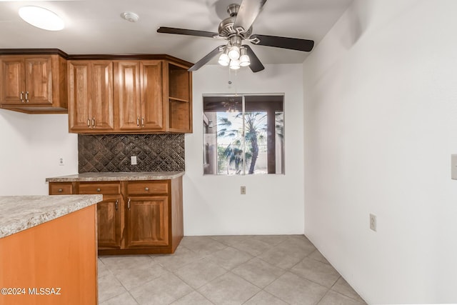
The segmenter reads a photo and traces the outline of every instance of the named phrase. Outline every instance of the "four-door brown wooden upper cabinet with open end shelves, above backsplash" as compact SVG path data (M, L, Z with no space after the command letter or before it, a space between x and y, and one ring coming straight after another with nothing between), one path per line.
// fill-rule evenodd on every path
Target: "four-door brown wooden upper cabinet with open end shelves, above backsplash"
M187 71L190 65L175 62L171 56L143 57L69 61L70 132L192 132L192 75ZM110 64L112 69L91 72L101 62Z

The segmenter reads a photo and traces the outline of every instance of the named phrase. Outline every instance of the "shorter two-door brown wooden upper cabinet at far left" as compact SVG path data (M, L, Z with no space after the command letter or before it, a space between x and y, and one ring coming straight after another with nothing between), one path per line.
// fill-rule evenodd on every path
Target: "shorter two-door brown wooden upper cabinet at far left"
M67 112L66 59L60 54L1 55L0 106L29 114Z

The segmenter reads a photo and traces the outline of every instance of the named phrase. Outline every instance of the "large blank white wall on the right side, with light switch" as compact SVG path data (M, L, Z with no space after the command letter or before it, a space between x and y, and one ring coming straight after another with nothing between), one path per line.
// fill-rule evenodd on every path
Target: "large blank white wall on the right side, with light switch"
M457 303L456 11L356 0L303 64L305 234L368 304Z

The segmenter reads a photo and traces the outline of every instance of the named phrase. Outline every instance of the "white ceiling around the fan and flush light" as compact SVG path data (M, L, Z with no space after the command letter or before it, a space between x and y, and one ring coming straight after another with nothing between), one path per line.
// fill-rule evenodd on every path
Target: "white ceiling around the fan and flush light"
M353 0L268 0L253 34L312 39L318 44ZM159 34L159 26L217 32L226 7L241 0L0 0L0 49L57 48L67 54L169 54L196 62L223 41ZM19 7L42 6L61 16L62 31L36 29L19 18ZM121 18L133 11L140 19ZM223 42L223 43L221 43ZM252 46L263 64L296 64L307 53Z

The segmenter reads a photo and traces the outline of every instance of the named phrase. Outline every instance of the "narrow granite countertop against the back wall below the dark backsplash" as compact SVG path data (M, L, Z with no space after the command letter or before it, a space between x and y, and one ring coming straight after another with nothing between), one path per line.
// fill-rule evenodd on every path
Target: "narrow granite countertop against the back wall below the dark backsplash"
M77 181L134 181L134 180L169 180L184 175L184 171L137 171L83 173L69 176L46 178L48 182L77 182Z

